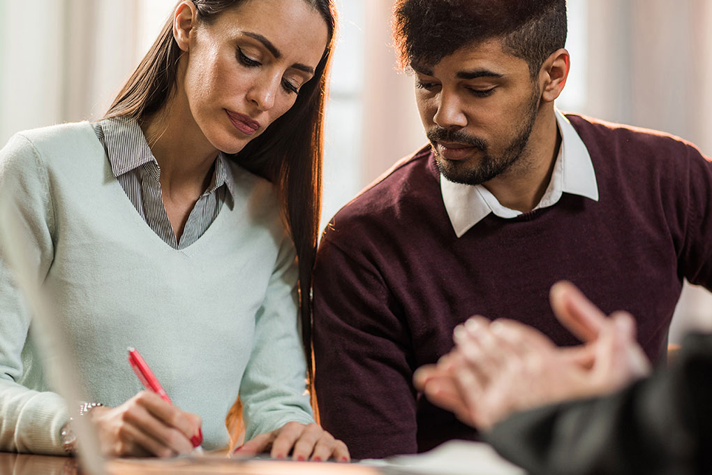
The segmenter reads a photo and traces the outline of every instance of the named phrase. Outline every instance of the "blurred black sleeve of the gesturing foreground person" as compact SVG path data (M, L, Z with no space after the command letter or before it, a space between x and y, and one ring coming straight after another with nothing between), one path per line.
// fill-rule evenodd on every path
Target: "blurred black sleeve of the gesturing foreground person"
M669 372L607 397L515 414L486 439L533 475L710 473L710 375L712 336L691 335Z

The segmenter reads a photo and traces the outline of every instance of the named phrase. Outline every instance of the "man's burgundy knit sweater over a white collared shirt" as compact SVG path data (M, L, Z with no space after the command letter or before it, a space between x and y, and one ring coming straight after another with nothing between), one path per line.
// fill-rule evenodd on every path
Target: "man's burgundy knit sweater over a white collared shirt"
M682 279L712 289L708 159L676 137L567 117L590 152L598 202L565 193L515 219L490 214L458 239L426 147L328 225L313 281L315 387L323 426L355 458L477 438L412 385L471 315L575 344L548 300L567 279L604 312L636 315L639 341L658 360Z

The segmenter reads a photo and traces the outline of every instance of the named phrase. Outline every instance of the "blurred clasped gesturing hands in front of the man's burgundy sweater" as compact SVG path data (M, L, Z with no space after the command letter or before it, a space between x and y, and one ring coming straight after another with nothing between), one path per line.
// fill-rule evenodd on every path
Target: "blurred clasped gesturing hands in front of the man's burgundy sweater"
M522 323L471 318L456 328L456 348L420 368L414 384L463 422L488 429L511 412L601 395L649 372L629 314L607 318L566 282L552 288L551 301L556 317L585 345L557 348Z

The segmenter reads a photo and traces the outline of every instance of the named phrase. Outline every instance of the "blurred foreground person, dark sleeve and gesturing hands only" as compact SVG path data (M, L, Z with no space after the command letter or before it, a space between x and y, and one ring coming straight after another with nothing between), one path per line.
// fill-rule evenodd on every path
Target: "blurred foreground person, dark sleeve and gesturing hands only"
M586 346L471 319L449 355L416 372L416 386L534 475L710 473L712 335L688 335L671 370L629 384L649 371L630 316L605 318L570 283L557 283L551 301Z

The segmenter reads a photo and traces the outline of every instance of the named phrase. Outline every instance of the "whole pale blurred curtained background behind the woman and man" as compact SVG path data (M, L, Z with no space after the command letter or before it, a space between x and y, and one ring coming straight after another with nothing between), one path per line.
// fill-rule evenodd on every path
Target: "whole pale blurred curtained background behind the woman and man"
M392 0L336 1L323 224L426 142L412 78L395 69ZM100 118L175 3L0 0L0 143L18 130ZM572 73L558 107L666 130L712 155L712 1L568 6ZM671 340L691 326L712 327L703 289L687 286L678 311Z

